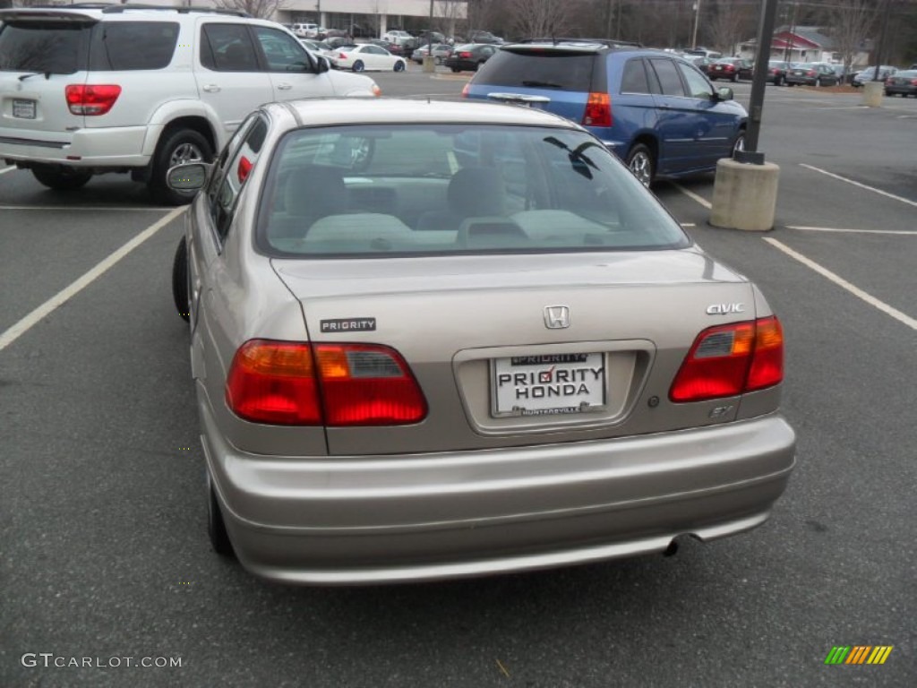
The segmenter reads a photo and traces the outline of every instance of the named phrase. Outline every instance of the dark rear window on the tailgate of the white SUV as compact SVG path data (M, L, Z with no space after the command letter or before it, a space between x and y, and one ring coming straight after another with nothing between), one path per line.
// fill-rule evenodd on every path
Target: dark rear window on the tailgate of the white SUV
M91 25L17 22L0 28L0 71L72 74L86 68Z

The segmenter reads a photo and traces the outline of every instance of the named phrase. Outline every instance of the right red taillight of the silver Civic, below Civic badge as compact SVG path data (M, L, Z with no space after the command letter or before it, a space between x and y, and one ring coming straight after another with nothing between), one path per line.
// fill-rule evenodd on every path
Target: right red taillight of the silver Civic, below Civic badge
M776 316L705 329L668 392L695 402L772 387L783 380L783 330Z

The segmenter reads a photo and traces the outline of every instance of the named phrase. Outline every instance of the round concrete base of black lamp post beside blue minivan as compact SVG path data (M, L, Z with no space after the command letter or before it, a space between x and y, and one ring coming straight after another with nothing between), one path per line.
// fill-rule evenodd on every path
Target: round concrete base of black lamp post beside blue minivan
M718 161L710 224L752 232L773 228L779 178L780 168L773 162L752 165L732 158Z

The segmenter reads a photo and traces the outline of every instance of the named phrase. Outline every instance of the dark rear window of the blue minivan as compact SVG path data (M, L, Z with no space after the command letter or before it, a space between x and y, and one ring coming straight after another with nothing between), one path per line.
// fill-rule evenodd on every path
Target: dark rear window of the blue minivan
M592 71L599 60L595 53L499 50L481 66L474 82L589 93Z

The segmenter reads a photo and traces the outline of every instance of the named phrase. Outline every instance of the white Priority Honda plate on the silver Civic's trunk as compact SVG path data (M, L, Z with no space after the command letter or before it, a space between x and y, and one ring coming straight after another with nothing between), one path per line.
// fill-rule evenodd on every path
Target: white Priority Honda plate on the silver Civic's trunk
M491 363L492 415L553 416L605 405L601 353L514 356Z

